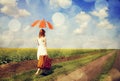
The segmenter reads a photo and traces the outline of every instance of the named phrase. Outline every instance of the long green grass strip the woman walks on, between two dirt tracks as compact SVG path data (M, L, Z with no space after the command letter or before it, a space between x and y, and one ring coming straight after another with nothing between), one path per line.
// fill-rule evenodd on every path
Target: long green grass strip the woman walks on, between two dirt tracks
M90 54L80 59L54 64L52 65L51 70L46 72L46 75L40 74L38 76L35 76L34 73L36 70L31 70L28 72L13 75L12 77L9 78L3 78L1 80L2 81L55 81L57 76L62 74L69 74L70 72L106 54L108 54L108 52Z

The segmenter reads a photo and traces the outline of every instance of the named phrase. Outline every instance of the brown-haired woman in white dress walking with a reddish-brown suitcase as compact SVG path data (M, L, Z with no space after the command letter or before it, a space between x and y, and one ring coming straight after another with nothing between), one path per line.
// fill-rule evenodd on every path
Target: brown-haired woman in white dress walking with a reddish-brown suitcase
M37 50L37 72L36 75L39 73L40 70L45 70L47 68L50 68L50 65L48 64L48 54L47 54L47 46L46 46L46 37L45 37L45 30L41 29L39 32L39 36L37 38L38 42L38 50Z

